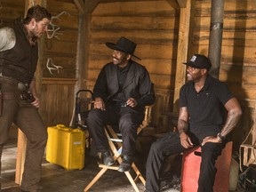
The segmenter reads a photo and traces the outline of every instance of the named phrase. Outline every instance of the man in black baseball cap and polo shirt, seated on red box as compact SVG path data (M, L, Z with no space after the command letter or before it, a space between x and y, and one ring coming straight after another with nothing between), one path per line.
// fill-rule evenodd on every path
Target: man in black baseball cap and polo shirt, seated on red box
M152 144L146 168L147 192L160 191L160 169L166 156L197 146L202 149L197 191L212 192L215 160L227 142L226 136L242 115L228 86L208 75L212 64L207 57L195 54L184 64L188 83L180 89L179 132L170 132Z

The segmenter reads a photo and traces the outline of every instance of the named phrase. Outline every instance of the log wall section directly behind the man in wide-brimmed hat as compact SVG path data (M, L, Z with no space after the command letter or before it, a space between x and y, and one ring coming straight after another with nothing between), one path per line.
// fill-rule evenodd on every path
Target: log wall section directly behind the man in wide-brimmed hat
M140 64L148 68L155 84L156 104L153 122L156 132L166 131L167 111L172 110L172 95L177 58L179 10L168 1L102 3L92 12L89 28L87 87L93 88L100 68L112 61L106 42L125 36L135 43Z

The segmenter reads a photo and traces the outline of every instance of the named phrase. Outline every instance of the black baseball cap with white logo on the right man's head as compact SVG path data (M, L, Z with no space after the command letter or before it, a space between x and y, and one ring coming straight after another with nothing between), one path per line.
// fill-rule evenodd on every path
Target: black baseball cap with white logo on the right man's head
M183 64L192 68L206 68L208 71L212 67L211 60L201 54L194 54L188 62Z

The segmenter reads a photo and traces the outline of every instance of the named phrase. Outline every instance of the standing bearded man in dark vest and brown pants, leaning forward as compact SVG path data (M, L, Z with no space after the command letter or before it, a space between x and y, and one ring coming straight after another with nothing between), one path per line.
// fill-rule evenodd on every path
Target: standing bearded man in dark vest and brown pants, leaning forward
M52 19L40 5L28 9L27 17L13 28L0 28L0 155L12 123L27 137L27 152L21 182L22 191L36 192L47 131L38 113L34 73L38 59L37 40Z

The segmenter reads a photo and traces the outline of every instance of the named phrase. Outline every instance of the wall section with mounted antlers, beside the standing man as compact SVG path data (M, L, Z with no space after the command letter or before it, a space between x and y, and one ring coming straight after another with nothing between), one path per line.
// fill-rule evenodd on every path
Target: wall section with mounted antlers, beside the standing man
M46 126L69 125L74 109L79 12L73 0L47 1L52 24L44 38L40 112Z

